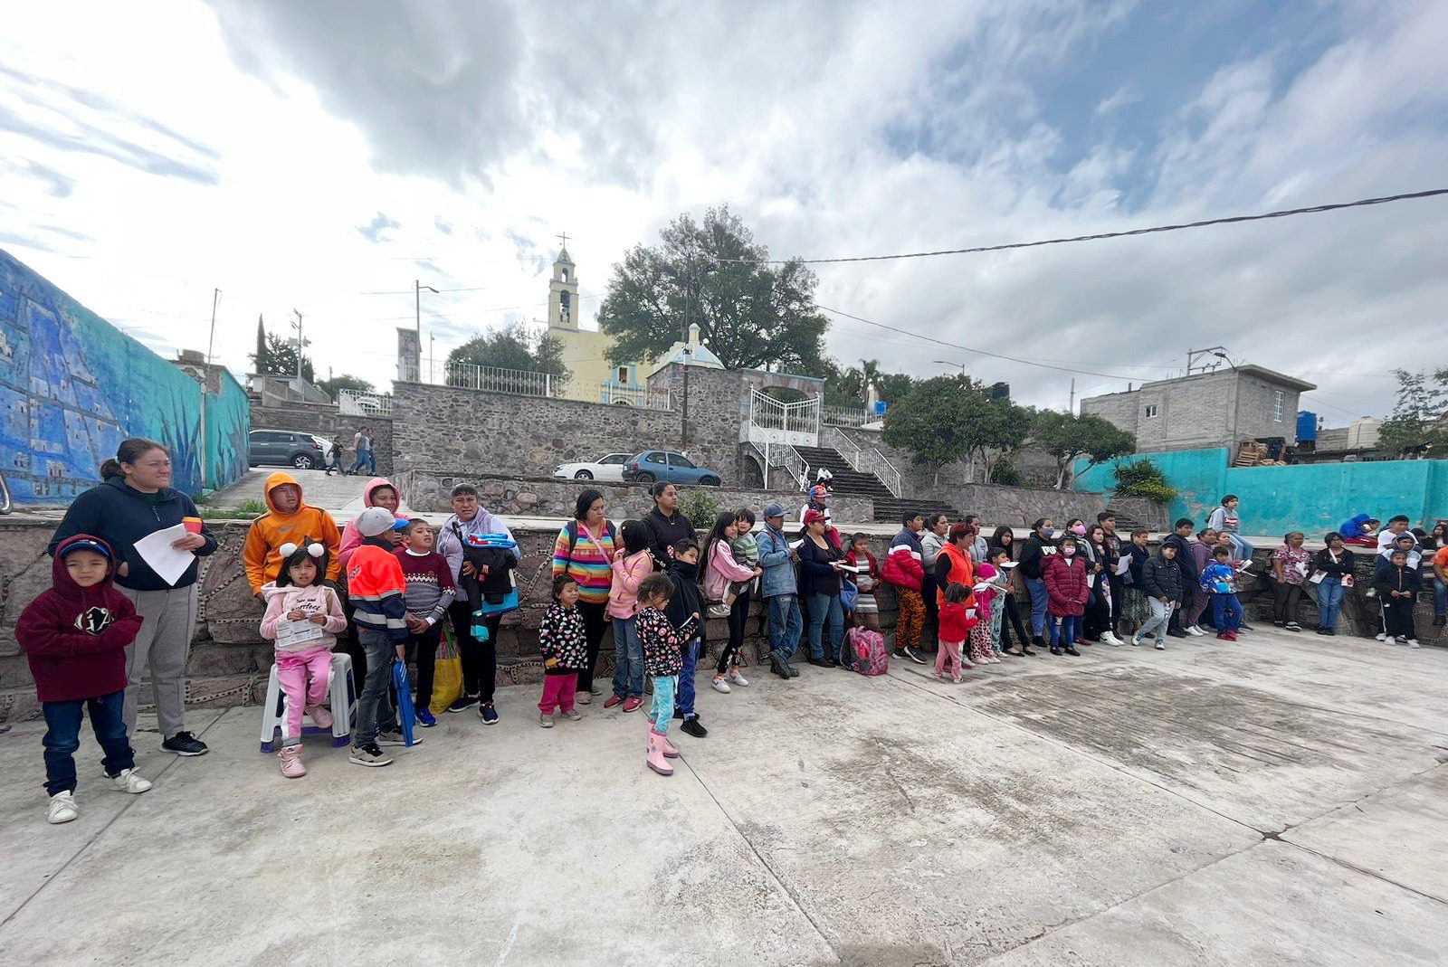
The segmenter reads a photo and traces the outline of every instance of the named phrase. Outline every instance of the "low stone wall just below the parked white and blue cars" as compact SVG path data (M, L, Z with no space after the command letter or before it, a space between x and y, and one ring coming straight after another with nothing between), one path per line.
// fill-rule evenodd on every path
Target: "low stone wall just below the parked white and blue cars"
M418 468L404 470L398 486L407 495L407 505L423 512L446 514L452 511L450 494L458 483L472 483L482 495L482 504L495 514L526 517L572 517L578 495L595 489L608 502L608 518L613 521L643 517L653 508L649 489L639 483L608 483L601 481L571 481L557 478L515 478L469 473L466 470L443 470ZM714 498L720 510L747 507L759 510L779 501L791 520L798 518L805 497L799 492L770 492L760 489L736 489L721 486L679 488L683 495L691 491ZM831 512L841 524L870 523L875 520L875 502L867 497L834 497Z

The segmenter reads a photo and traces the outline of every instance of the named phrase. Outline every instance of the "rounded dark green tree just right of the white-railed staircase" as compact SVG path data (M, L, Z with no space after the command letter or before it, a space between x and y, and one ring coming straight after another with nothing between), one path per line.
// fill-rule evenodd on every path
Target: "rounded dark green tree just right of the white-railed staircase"
M995 457L1019 447L1030 423L1027 410L992 400L970 376L935 376L886 408L885 442L933 465L937 482L954 460L979 462L989 482Z

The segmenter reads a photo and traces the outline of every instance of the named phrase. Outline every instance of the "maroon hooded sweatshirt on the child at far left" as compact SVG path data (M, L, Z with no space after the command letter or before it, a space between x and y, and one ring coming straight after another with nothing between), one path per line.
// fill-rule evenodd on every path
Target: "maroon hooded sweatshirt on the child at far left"
M74 534L56 550L78 540L100 539ZM140 617L130 599L111 586L114 573L111 556L104 580L81 588L56 553L51 562L51 589L20 612L14 638L30 662L35 693L42 702L100 698L126 688L126 646L140 631Z

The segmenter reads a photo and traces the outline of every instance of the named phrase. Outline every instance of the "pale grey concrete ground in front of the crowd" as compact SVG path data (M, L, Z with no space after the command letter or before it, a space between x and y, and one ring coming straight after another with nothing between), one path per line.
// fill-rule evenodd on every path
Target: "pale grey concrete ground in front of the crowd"
M1448 650L1260 631L940 683L805 666L641 714L445 715L363 770L256 751L259 711L83 740L43 821L41 727L0 737L0 963L1442 964Z

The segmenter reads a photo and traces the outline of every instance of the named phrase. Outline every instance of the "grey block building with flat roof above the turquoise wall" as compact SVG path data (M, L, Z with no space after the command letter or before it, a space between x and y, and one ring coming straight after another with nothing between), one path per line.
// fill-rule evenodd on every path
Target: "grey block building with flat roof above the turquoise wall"
M1293 443L1297 398L1316 388L1263 366L1234 366L1087 397L1080 411L1134 433L1141 453L1232 446L1254 437Z

